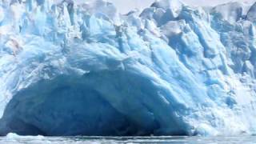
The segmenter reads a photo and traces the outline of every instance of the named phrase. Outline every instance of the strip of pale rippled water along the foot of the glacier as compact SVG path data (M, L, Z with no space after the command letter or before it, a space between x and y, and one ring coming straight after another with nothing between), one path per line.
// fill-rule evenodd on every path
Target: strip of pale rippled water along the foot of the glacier
M0 143L177 143L177 144L254 144L256 136L240 137L0 137Z

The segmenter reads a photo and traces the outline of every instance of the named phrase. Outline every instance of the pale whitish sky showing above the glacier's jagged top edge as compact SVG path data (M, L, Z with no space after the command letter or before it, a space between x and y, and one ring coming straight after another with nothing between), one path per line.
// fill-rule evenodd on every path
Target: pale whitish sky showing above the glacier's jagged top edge
M143 9L145 7L150 6L154 0L108 0L113 2L117 7L118 10L125 14L134 8ZM216 6L218 4L226 3L226 2L234 2L234 0L181 0L188 5L194 6ZM237 2L247 2L253 3L256 0L237 0Z

